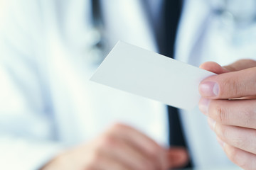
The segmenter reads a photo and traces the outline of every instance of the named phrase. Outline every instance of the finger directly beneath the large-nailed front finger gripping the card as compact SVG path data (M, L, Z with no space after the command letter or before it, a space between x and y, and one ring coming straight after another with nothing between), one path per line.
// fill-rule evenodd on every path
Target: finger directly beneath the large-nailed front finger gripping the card
M256 100L208 100L201 98L200 110L223 125L256 129Z

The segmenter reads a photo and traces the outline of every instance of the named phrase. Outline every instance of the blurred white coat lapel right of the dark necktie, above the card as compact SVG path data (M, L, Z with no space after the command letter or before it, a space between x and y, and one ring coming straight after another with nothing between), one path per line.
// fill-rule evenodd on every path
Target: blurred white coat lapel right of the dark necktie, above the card
M195 47L206 29L209 16L210 9L205 1L184 1L183 14L176 38L175 54L181 62L191 62L191 59L194 59L192 55L195 55Z

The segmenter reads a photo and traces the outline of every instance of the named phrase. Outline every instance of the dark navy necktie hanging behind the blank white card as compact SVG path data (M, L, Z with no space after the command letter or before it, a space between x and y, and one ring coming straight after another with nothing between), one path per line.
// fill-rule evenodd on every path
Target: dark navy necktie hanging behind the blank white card
M178 27L178 21L181 16L181 0L165 0L164 1L164 29L162 36L163 42L161 45L162 55L174 58L174 44L176 40L176 33ZM183 135L183 129L181 126L181 118L178 113L178 109L168 106L168 117L169 117L169 142L170 146L187 147L186 140ZM191 162L187 167L191 167Z

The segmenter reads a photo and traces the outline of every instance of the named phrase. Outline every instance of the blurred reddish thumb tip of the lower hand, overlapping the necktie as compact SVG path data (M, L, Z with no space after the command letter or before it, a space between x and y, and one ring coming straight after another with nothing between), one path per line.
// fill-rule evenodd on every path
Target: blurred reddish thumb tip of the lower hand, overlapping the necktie
M173 147L166 152L166 169L178 168L188 164L188 152L183 147Z

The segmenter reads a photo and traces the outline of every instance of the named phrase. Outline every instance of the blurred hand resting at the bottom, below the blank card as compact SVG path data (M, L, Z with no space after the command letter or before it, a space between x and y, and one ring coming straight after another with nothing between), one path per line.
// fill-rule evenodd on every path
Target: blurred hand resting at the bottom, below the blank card
M60 154L42 170L165 170L186 162L185 149L164 149L134 128L116 124L92 142Z

